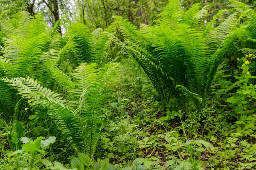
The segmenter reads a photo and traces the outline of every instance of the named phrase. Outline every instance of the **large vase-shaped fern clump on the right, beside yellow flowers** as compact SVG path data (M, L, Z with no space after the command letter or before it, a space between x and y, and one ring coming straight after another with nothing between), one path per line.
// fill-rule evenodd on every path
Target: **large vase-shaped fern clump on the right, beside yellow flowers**
M222 57L239 34L238 13L214 26L223 13L219 11L205 26L205 8L194 4L183 12L179 0L172 0L154 26L137 29L115 17L111 27L121 30L125 40L114 37L114 29L109 29L109 37L134 57L163 99L175 97L184 110L194 102L200 109Z

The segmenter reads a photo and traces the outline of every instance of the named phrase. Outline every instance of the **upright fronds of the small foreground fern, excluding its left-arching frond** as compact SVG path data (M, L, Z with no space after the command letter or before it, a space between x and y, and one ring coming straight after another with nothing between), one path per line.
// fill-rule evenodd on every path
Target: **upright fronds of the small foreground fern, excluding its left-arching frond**
M105 122L105 109L113 98L111 86L116 84L119 77L119 65L107 64L103 68L96 69L97 63L81 64L74 73L76 88L70 91L76 107L76 113L81 119L85 152L93 156L100 129Z

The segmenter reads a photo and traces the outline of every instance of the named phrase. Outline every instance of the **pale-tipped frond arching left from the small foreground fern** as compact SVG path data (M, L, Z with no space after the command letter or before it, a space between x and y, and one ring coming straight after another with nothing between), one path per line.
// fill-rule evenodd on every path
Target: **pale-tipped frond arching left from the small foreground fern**
M47 108L47 114L52 121L56 123L58 129L61 130L67 139L75 144L76 148L80 148L81 129L79 128L79 119L70 111L66 104L66 100L55 94L47 88L44 88L32 78L12 78L3 79L12 88L15 88L21 96L30 99L31 105L40 105Z

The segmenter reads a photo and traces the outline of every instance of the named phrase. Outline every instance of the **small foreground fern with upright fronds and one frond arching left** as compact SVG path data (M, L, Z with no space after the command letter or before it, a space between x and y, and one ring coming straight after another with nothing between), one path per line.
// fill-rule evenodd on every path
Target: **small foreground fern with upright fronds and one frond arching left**
M43 87L35 79L4 78L3 81L31 101L31 106L47 109L50 119L73 147L93 156L99 134L106 120L109 102L113 99L111 86L116 84L119 66L108 64L96 69L97 63L81 64L74 73L75 86L67 100Z

